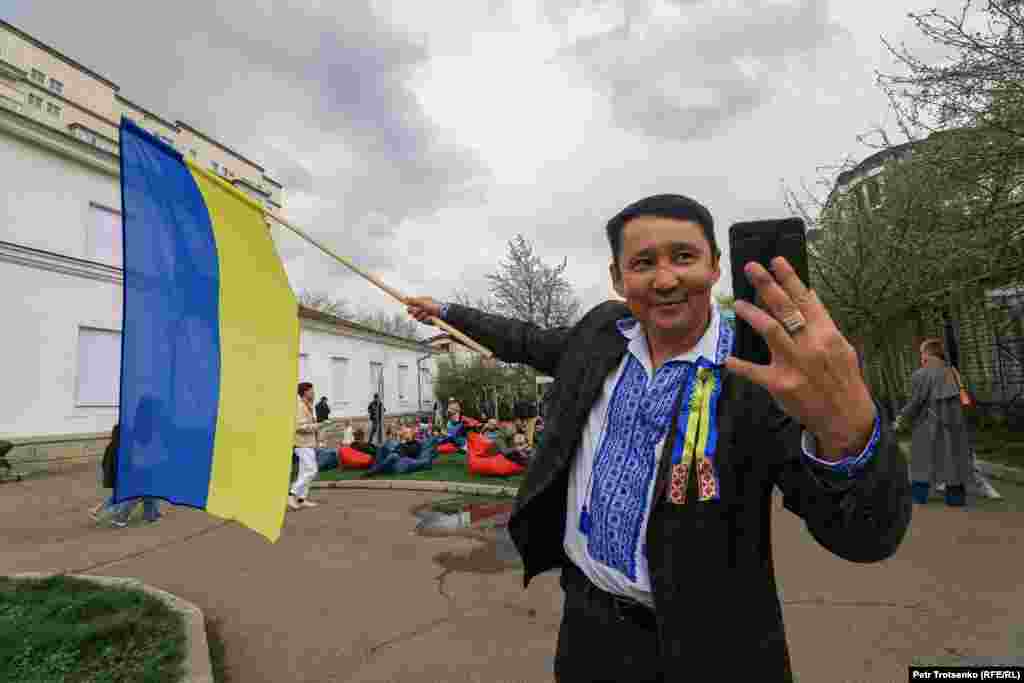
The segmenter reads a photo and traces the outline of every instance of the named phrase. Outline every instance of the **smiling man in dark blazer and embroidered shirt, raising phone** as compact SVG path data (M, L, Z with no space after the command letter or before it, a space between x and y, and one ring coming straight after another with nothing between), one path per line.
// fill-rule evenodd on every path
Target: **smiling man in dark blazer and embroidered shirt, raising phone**
M555 378L508 524L525 585L561 569L555 679L791 682L773 489L829 552L879 562L910 522L906 461L853 347L785 259L745 265L763 308L735 303L771 349L759 366L731 355L712 300L707 208L651 197L606 232L625 302L571 328L407 299L421 323Z

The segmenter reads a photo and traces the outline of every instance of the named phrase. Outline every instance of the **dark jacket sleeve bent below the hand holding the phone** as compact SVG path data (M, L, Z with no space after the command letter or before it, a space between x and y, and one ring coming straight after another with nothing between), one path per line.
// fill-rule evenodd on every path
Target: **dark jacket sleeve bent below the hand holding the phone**
M784 507L844 559L878 562L895 553L910 524L911 502L906 460L890 426L880 421L873 453L861 467L839 472L808 458L801 426L769 402L765 426L775 441L770 476Z

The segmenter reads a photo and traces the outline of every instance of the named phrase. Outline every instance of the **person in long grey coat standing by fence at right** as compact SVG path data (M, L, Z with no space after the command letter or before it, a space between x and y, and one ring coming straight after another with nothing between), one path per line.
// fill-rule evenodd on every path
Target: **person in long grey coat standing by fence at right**
M897 426L913 424L910 480L914 503L927 503L932 481L946 484L946 504L965 503L971 446L959 400L959 374L946 365L939 339L921 345L921 369L910 378L911 396Z

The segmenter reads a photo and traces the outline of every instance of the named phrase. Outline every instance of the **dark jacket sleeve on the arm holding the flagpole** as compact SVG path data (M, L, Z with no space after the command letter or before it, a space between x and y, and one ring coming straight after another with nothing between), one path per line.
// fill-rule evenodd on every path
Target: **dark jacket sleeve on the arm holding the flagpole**
M447 304L444 322L480 342L505 362L519 362L554 376L569 336L569 328L542 330L530 323Z

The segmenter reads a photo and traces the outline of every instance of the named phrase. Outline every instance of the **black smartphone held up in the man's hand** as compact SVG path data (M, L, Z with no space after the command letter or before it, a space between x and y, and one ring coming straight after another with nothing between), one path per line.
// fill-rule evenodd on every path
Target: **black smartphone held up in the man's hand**
M757 261L771 272L771 260L783 257L808 285L807 230L801 218L752 220L729 228L729 261L732 265L732 294L739 300L758 304L757 291L743 272L743 266ZM745 321L736 316L733 354L737 358L767 365L771 362L768 344Z

